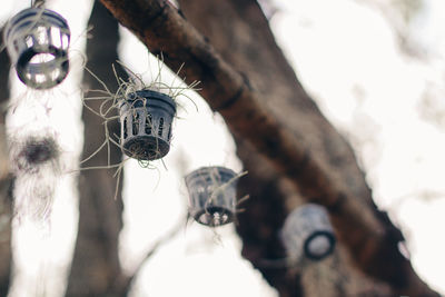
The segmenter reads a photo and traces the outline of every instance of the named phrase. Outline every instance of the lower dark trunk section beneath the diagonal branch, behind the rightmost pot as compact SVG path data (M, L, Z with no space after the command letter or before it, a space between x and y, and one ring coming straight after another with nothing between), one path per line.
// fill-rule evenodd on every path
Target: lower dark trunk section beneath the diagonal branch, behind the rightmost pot
M335 254L320 263L306 261L287 268L280 260L270 261L286 257L277 235L286 209L300 206L305 199L293 182L277 174L270 161L247 141L236 138L236 142L238 156L249 170L249 175L238 182L240 196L250 195L250 199L240 206L246 211L238 215L243 254L277 288L279 296L394 296L388 285L357 270L343 242L337 242Z

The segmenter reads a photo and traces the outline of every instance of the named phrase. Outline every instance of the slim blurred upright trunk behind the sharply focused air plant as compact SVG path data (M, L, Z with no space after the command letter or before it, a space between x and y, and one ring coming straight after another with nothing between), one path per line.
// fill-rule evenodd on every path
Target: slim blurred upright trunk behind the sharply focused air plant
M96 1L90 26L93 36L87 42L87 67L93 71L111 89L116 90L116 79L111 65L118 59L118 23L103 6ZM123 78L125 73L119 71ZM103 87L90 73L85 73L86 97L103 96L92 90ZM91 100L87 105L98 110L101 101ZM89 157L105 140L103 120L83 108L85 145L82 159ZM118 121L109 125L111 135L119 135ZM121 151L116 146L110 147L110 162L121 161ZM107 149L102 149L91 161L82 167L107 165ZM66 296L122 296L122 270L119 264L118 242L122 228L122 197L119 192L115 200L117 179L112 169L82 170L79 178L79 229L76 241L71 273L68 279Z

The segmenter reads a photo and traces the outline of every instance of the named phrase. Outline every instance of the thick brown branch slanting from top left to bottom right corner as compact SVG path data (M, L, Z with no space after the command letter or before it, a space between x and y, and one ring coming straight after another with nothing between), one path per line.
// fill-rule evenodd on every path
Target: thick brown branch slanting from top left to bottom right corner
M327 207L339 239L363 271L390 284L398 294L438 296L416 276L411 263L398 251L397 244L403 237L376 211L350 147L320 115L289 67L278 73L281 73L279 78L290 76L281 85L291 87L285 92L273 88L275 95L268 97L268 92L263 92L267 87L260 83L264 80L243 76L226 62L168 1L101 2L151 52L162 51L171 69L186 62L184 70L188 81L202 81L201 95L221 113L230 131L266 156L277 172L291 180L306 199ZM248 9L251 9L250 2L240 1ZM263 20L257 20L256 24L258 22ZM271 33L268 31L267 36ZM259 62L260 57L257 58ZM281 65L283 60L276 62ZM279 97L291 106L286 115L279 116L270 103L271 98Z

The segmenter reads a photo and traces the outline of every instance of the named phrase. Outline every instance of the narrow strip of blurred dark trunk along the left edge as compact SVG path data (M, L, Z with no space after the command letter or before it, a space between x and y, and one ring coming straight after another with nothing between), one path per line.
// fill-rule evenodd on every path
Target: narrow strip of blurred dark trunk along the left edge
M0 36L3 31L0 30ZM0 51L0 296L7 296L11 278L11 189L13 178L8 165L8 146L4 129L4 111L9 100L9 58Z

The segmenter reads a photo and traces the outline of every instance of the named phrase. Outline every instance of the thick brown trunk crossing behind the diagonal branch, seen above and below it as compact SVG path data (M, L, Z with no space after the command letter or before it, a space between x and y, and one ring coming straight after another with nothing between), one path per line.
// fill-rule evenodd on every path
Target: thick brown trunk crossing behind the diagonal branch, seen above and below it
M330 170L342 168L343 175L349 179L357 177L350 180L350 184L366 189L355 162L352 162L350 158L345 159L350 156L343 154L346 155L343 160L328 159L336 149L342 150L342 143L337 147L334 145L338 142L339 136L333 132L330 127L326 131L323 127L314 127L314 123L306 123L301 128L304 122L298 120L301 115L297 113L295 105L301 105L301 101L309 101L310 98L298 83L275 43L266 18L256 1L179 0L179 4L187 20L209 39L222 58L247 77L250 85L264 95L263 98L268 98L260 103L274 113L280 125L288 127L296 136L305 132L301 140L306 138L314 151L322 152L318 158L326 158L324 162L332 164ZM314 109L309 117L317 120L320 115ZM285 256L277 231L283 226L286 215L296 206L304 204L305 199L299 194L300 190L293 187L289 179L277 171L270 161L258 155L254 147L241 137L235 139L238 156L245 169L249 171L249 175L240 181L239 190L249 192L251 197L243 206L247 211L239 215L237 225L244 240L243 254L263 271L273 286L278 288L280 296L297 296L296 280L299 278L303 280L301 291L305 296L390 296L387 286L364 277L352 267L350 257L343 242L339 242L334 259L327 260L330 265L314 264L298 267L301 274L296 274L296 269L269 269L261 265L265 258ZM334 147L330 148L329 145ZM370 196L357 196L357 199L363 199L364 204L373 207L368 198ZM335 273L333 264L336 266Z

